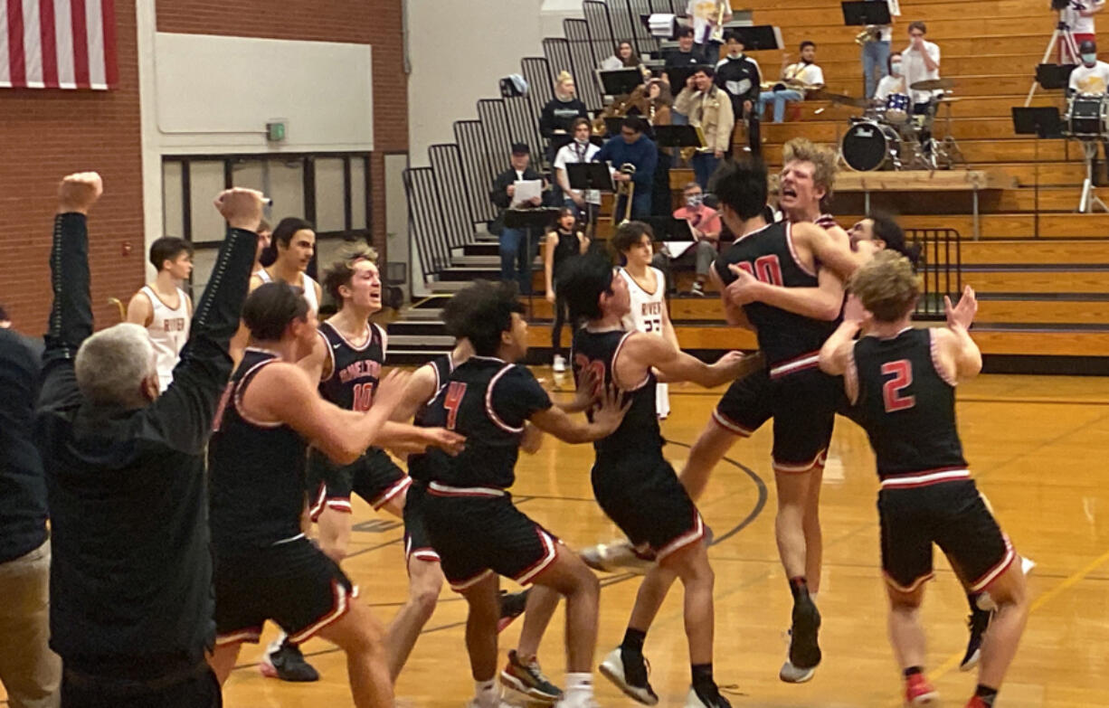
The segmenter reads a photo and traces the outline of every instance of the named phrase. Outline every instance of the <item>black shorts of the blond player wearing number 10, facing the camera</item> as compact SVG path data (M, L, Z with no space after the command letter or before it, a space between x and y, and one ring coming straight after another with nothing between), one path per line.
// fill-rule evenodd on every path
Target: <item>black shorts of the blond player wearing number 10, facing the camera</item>
M324 509L349 514L352 493L378 510L411 484L405 471L380 448L368 449L347 465L335 464L324 453L312 450L307 479L312 521L317 521Z

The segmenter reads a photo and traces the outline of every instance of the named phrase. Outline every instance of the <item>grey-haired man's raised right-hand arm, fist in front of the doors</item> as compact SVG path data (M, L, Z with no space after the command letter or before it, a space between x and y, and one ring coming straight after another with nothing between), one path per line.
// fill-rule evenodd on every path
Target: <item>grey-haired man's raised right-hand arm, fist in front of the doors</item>
M226 189L214 203L227 220L227 234L196 305L173 383L146 409L171 447L193 454L207 443L220 394L231 377L228 346L246 299L263 196L254 189Z

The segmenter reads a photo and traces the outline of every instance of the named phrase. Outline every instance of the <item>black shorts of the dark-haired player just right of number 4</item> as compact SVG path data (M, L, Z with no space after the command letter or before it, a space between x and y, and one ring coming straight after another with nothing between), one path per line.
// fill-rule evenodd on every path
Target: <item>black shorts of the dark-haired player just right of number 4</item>
M704 522L674 469L659 453L598 460L593 495L640 553L659 561L704 537Z

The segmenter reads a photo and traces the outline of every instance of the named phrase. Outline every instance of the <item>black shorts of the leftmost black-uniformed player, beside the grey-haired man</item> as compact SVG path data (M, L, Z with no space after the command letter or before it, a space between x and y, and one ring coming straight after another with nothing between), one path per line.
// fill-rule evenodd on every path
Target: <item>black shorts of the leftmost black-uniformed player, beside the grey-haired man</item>
M266 619L301 644L340 619L358 595L339 566L304 536L216 553L214 585L216 646L257 643Z

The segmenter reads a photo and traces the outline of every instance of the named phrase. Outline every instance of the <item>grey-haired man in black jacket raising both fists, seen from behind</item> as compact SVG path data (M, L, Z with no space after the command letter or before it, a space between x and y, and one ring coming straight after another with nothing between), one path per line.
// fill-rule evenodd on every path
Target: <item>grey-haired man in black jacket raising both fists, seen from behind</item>
M92 334L85 215L101 192L95 173L70 175L59 191L37 415L62 706L220 706L205 661L215 624L203 455L231 374L227 342L246 297L262 195L228 189L216 198L227 237L173 383L159 396L141 328Z

